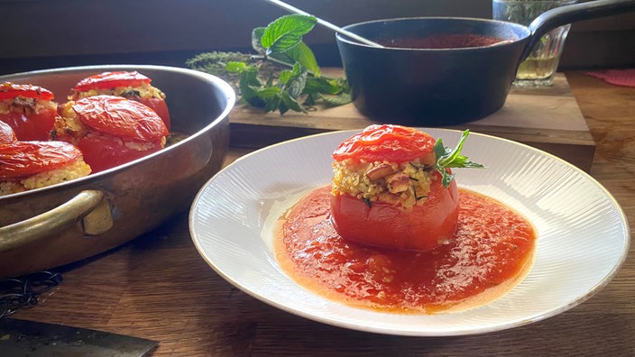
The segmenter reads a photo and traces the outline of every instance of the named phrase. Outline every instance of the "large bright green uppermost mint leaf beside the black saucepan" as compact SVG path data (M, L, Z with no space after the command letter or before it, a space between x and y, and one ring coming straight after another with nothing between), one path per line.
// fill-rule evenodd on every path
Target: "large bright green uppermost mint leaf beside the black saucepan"
M270 23L262 33L261 44L267 55L285 52L302 41L318 20L314 16L290 14Z

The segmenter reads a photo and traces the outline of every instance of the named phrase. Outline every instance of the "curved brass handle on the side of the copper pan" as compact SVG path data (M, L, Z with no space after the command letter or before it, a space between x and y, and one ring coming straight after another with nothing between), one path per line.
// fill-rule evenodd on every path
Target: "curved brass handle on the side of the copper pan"
M104 193L84 190L48 212L0 227L0 252L19 248L82 221L84 233L104 233L113 225Z

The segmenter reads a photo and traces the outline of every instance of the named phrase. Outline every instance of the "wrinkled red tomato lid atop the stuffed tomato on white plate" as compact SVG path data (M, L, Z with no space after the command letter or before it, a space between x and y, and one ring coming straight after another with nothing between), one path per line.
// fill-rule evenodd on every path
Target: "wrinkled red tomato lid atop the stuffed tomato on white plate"
M333 159L408 162L433 154L435 142L427 133L410 127L376 124L341 142L333 152Z

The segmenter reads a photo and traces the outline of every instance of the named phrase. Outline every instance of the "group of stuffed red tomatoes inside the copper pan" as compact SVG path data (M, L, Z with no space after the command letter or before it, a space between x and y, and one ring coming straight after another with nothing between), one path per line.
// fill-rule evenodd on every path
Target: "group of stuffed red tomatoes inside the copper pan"
M111 169L165 146L170 115L149 78L106 72L72 93L58 105L46 88L0 87L0 195Z

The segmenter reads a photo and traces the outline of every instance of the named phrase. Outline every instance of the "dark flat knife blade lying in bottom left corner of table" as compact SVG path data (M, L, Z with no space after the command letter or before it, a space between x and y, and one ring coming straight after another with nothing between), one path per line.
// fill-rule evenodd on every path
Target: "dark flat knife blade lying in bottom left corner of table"
M0 319L0 351L5 356L144 356L157 341L86 328L14 318Z

